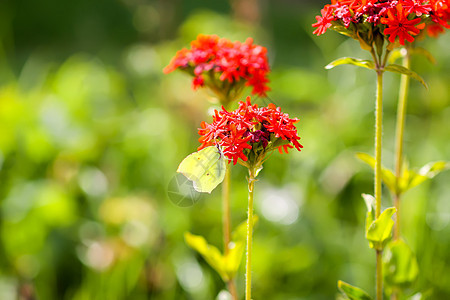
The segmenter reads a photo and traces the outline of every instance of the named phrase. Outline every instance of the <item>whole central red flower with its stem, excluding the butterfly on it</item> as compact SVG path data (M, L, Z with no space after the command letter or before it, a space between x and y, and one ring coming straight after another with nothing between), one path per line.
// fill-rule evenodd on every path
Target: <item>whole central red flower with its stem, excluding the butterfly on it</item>
M301 151L297 128L294 125L299 120L290 118L270 103L267 107L258 107L252 104L250 97L240 101L238 109L215 111L212 123L201 123L199 141L200 149L215 146L220 148L221 155L228 159L229 164L239 163L249 170L248 175L248 218L247 218L247 248L246 248L246 275L245 299L251 299L252 282L252 234L253 234L253 188L256 176L261 171L263 163L270 154L278 150L288 153L295 148ZM228 166L229 168L229 166ZM225 175L227 177L227 175ZM224 199L227 198L227 188L224 187ZM225 205L225 204L224 204ZM224 208L226 210L226 208ZM226 215L226 214L225 214ZM225 224L226 222L224 222ZM229 249L227 250L229 251ZM232 287L230 287L230 292Z

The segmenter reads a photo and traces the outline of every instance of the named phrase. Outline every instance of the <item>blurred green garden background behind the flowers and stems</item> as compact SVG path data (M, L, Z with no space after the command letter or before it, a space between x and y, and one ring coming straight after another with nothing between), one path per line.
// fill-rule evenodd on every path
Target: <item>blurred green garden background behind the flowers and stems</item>
M274 154L255 188L254 298L333 299L338 279L373 294L360 196L372 193L372 172L354 153L373 151L375 74L324 70L341 56L367 57L335 32L312 35L324 3L1 1L0 299L209 300L224 289L183 238L222 247L220 189L190 207L167 196L215 105L185 74L162 74L199 33L266 46L272 91L253 101L301 119L304 149ZM450 160L450 36L420 44L437 64L413 60L430 86L411 86L405 150L415 167ZM385 82L392 167L399 76ZM246 217L245 175L233 168L234 225ZM421 270L410 292L430 299L450 299L449 182L443 173L403 202ZM383 201L392 205L388 193Z

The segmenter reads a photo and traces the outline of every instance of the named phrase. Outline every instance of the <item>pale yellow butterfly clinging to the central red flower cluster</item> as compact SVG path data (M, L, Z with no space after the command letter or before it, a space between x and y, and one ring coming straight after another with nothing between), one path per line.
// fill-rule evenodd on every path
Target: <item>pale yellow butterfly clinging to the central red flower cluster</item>
M226 168L223 153L210 146L188 155L177 172L192 181L197 192L211 193L225 178Z

